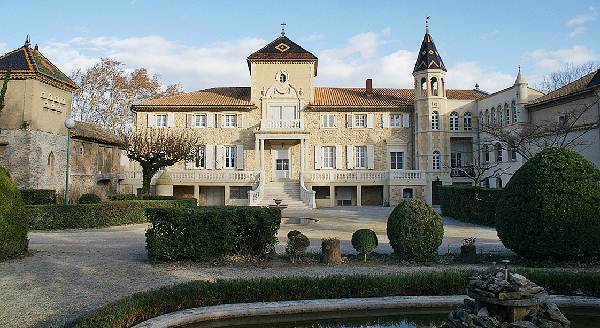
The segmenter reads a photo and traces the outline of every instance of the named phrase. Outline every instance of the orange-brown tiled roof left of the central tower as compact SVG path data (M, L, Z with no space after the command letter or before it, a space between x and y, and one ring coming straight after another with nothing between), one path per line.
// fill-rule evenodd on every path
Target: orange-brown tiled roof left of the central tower
M161 106L252 106L249 87L211 88L193 92L185 92L174 96L146 100L133 109L140 107Z

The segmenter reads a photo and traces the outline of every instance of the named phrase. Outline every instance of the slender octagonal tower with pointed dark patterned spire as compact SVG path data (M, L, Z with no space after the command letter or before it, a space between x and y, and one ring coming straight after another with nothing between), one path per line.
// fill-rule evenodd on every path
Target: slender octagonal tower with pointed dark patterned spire
M417 169L425 171L425 199L436 203L435 188L451 183L450 139L446 123L446 67L429 34L429 17L425 36L413 70L415 82L415 152Z

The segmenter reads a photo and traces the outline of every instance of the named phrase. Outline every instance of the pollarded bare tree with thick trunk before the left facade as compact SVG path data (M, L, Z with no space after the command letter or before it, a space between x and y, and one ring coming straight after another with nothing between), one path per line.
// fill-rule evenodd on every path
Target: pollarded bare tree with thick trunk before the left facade
M197 137L189 132L171 129L142 129L124 137L127 157L142 167L142 193L150 193L150 181L160 169L180 161L195 160Z

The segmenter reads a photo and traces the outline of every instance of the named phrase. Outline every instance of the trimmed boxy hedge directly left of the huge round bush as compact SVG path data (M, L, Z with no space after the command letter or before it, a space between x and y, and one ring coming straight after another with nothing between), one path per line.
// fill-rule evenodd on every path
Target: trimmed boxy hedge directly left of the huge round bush
M496 206L503 189L443 186L439 188L442 215L459 221L496 226Z

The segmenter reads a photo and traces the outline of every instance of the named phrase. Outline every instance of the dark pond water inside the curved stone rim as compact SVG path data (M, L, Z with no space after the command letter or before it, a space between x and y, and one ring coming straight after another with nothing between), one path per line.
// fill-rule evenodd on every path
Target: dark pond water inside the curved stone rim
M257 316L199 323L187 328L426 328L440 327L451 309L378 310ZM594 310L561 309L573 328L600 327L600 313Z

